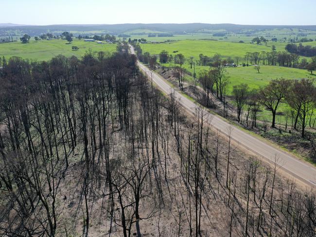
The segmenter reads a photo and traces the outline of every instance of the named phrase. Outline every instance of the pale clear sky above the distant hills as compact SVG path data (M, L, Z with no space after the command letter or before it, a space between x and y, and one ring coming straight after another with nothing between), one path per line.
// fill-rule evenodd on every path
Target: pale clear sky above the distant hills
M0 0L0 23L316 25L315 0Z

